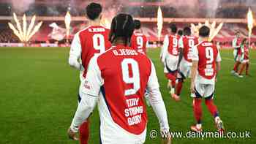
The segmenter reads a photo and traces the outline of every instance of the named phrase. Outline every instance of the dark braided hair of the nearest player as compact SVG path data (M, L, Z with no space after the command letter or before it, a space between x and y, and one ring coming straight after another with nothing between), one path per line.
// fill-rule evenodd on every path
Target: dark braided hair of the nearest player
M109 41L113 42L117 37L125 39L126 44L130 42L135 29L132 15L121 13L116 15L111 22Z

